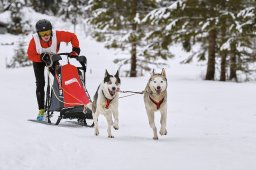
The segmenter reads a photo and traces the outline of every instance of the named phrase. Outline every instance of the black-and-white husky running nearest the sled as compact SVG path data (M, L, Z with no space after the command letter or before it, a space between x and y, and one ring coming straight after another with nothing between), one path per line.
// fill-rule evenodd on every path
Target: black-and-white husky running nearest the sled
M92 103L93 120L95 123L95 135L99 135L98 117L103 114L108 123L108 137L114 138L111 133L111 126L113 125L115 130L118 130L118 98L119 87L121 80L119 78L119 72L110 75L108 71L105 72L103 82L99 85ZM114 123L112 120L114 117Z

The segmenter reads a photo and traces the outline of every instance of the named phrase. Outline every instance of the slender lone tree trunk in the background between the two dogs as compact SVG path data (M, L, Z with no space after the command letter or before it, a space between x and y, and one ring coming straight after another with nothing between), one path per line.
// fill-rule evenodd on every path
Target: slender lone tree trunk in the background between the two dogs
M137 0L133 0L132 2L132 14L135 18L137 12ZM136 30L137 24L133 22L132 24L133 36L131 38L131 70L130 70L130 77L137 77L137 37L136 37Z

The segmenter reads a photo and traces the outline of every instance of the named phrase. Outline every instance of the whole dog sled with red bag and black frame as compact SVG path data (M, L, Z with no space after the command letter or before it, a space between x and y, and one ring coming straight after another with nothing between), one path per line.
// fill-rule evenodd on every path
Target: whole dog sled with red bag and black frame
M67 56L67 64L61 65L60 56ZM62 119L77 119L79 124L93 127L94 123L88 125L86 120L93 119L92 111L87 107L91 103L88 91L85 87L85 75L87 59L85 56L76 57L81 67L70 64L69 53L48 55L42 60L46 63L54 77L53 84L50 81L50 74L47 78L45 111L48 123L54 112L59 112L56 125Z

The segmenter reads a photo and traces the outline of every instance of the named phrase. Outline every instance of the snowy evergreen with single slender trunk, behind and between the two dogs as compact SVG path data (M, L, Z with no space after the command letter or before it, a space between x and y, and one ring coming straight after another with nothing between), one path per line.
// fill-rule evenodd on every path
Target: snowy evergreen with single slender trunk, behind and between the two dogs
M87 21L95 27L93 36L105 41L108 48L130 51L131 57L124 63L130 63L131 77L137 76L137 59L145 54L143 38L150 29L141 19L155 7L155 0L91 0L87 8L91 11Z

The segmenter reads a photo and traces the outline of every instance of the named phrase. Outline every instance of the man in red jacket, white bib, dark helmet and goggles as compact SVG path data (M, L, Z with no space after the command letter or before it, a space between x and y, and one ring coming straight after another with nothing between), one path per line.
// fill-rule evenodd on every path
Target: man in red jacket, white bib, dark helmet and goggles
M28 59L33 62L33 69L36 78L36 97L39 108L37 120L42 121L45 113L44 68L46 66L45 62L42 61L42 57L49 53L57 54L61 42L71 42L71 57L77 57L80 53L80 48L79 41L74 33L52 30L51 22L46 19L39 20L36 23L36 32L37 33L33 34L33 38L30 40L27 54Z

